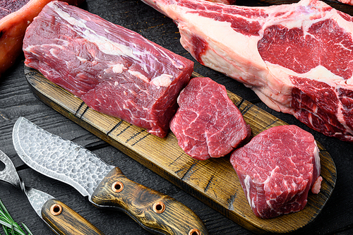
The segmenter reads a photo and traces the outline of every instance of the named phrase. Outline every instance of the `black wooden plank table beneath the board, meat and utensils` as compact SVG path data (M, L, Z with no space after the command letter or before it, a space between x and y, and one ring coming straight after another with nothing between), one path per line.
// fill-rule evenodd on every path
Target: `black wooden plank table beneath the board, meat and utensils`
M252 1L248 4L250 2ZM134 30L162 47L195 61L181 47L178 29L172 20L141 1L87 0L81 7L113 23ZM98 209L71 186L42 176L23 164L16 155L12 143L13 124L19 116L24 116L47 131L87 147L100 156L104 162L119 167L131 180L176 198L203 219L210 234L251 234L250 231L227 219L220 212L196 200L192 195L162 179L148 168L43 104L28 87L23 73L23 60L24 57L20 56L16 65L0 80L0 150L11 157L26 186L50 193L83 215L107 235L149 234L124 213ZM353 144L312 131L289 114L274 112L241 83L205 68L196 61L194 70L203 76L213 78L225 85L227 90L244 97L279 119L311 132L333 157L337 168L337 183L330 200L311 224L293 234L353 234ZM15 221L25 223L33 234L54 234L40 217L37 217L25 195L18 189L0 181L0 199ZM1 229L0 234L4 234Z

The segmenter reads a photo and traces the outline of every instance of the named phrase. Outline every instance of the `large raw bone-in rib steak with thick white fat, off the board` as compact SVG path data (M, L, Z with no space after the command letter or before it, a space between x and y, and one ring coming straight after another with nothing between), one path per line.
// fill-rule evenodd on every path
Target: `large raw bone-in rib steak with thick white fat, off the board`
M353 19L317 0L268 7L143 0L177 23L201 64L253 89L268 107L353 141Z

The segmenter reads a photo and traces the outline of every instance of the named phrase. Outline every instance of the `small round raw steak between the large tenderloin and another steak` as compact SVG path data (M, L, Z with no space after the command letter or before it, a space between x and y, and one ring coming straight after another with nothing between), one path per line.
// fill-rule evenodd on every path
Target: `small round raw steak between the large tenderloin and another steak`
M210 78L192 78L178 104L170 129L179 146L195 159L225 156L251 135L225 86Z

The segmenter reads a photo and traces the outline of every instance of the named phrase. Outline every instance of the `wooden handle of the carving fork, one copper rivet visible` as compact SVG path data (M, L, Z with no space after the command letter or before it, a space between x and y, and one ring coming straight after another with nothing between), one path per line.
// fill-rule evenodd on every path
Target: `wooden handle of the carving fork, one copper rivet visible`
M57 234L103 234L102 231L93 226L87 219L56 199L50 199L44 203L42 218Z

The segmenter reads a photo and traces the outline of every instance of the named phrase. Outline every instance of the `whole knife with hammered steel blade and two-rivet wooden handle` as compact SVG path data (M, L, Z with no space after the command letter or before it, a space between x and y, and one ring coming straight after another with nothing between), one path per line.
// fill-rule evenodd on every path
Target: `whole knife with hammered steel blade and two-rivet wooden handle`
M155 234L208 234L201 219L174 198L131 181L95 153L49 133L24 117L13 126L13 145L29 167L68 183L97 206L126 212Z

